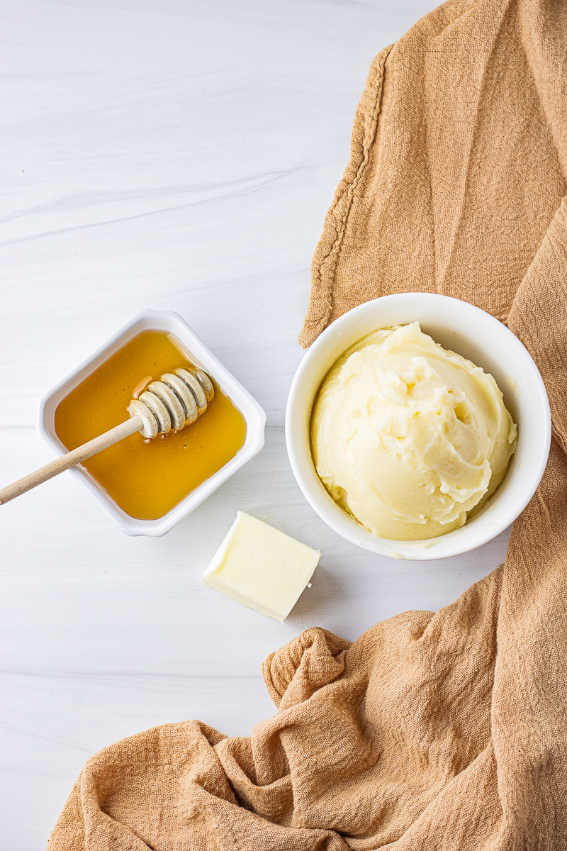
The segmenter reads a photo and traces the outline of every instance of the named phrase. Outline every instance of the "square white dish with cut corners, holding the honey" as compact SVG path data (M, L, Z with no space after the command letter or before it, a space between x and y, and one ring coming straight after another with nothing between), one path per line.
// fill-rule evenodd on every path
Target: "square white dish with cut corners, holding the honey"
M118 349L125 346L136 334L147 330L167 331L168 334L175 334L177 339L190 351L191 360L201 366L206 373L213 376L221 390L239 409L247 424L244 446L239 449L235 457L158 520L137 520L130 517L126 511L122 511L122 508L116 505L116 502L106 493L105 488L87 470L82 466L73 467L71 470L73 475L77 476L94 493L99 502L109 511L111 517L116 520L122 532L129 535L144 534L158 537L168 532L184 517L187 517L191 511L196 509L197 505L201 505L201 502L206 500L207 496L210 496L219 485L226 482L233 473L240 470L241 466L246 464L264 446L266 414L263 408L260 408L258 402L252 398L250 393L214 357L213 352L203 345L195 332L178 313L145 310L132 317L122 328L118 328L116 334L112 334L111 338L106 340L97 351L94 351L91 357L88 357L77 369L66 375L40 399L37 427L57 454L64 454L67 450L57 437L54 424L55 409L59 403L88 375L99 368L101 363L104 363Z

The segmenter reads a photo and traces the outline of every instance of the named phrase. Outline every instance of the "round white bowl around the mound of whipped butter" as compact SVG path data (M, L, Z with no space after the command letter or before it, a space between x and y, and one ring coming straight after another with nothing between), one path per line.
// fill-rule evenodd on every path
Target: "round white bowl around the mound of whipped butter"
M518 426L518 448L495 494L454 532L422 541L377 538L346 514L315 472L309 441L311 408L321 381L337 357L375 331L419 321L445 349L494 376ZM505 325L465 301L445 295L400 293L354 307L323 331L306 352L286 408L287 454L305 499L338 534L365 550L392 558L426 561L468 552L495 538L524 510L540 483L549 454L551 417L541 375L530 354Z

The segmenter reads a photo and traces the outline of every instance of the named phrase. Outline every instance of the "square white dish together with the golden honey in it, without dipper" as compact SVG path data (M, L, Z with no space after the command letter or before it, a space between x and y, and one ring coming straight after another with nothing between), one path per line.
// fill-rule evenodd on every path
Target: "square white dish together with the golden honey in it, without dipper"
M143 311L40 403L39 428L59 452L128 420L141 379L196 366L214 397L192 424L150 442L139 432L84 461L82 477L127 534L164 534L264 445L258 403L175 313Z

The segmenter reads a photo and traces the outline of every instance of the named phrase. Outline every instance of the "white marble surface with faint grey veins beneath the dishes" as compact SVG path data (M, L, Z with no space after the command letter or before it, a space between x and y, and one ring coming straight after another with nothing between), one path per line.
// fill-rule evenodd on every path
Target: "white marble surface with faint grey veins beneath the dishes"
M0 508L2 851L38 851L94 751L274 711L264 656L436 609L507 534L445 562L358 550L286 458L309 260L374 54L428 0L3 4L0 481L51 459L37 397L141 307L179 313L268 414L266 447L165 538L127 538L69 474ZM285 625L199 580L235 511L320 547Z

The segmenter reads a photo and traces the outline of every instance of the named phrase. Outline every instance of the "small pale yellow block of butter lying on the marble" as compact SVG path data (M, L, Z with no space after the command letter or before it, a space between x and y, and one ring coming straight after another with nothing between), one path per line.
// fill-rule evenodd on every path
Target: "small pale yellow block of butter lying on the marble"
M282 624L319 559L319 550L237 511L201 582Z

